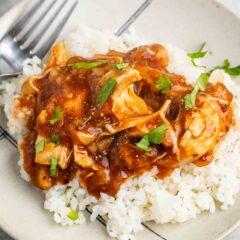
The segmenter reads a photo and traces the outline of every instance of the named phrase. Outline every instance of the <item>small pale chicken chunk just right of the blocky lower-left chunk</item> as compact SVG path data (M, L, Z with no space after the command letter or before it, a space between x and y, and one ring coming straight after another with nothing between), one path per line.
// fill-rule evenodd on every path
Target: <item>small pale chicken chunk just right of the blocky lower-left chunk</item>
M97 169L92 157L89 156L87 150L83 146L74 145L74 162L83 168Z

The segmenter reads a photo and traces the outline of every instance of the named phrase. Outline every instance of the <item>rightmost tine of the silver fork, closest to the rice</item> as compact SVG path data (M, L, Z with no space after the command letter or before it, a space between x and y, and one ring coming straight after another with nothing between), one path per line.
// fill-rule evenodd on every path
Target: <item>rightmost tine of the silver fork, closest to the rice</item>
M59 33L65 26L67 20L71 16L73 10L77 6L78 1L75 0L74 4L72 7L67 11L67 13L63 16L62 20L58 23L58 26L55 28L55 30L51 33L49 39L47 40L46 43L44 43L43 47L41 47L36 53L38 57L43 58L46 53L48 52L49 48L52 46L52 44L55 42L56 38L58 37Z

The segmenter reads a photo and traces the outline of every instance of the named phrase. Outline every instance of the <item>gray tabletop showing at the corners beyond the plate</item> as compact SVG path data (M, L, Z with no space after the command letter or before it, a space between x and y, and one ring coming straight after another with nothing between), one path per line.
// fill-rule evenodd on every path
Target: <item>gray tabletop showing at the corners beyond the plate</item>
M240 1L239 0L217 0L231 11L237 13L240 16ZM9 8L14 4L20 2L20 0L0 0L0 16L4 14ZM0 239L1 240L13 240L6 233L0 229ZM225 238L225 240L239 240L240 239L240 227L235 230L232 234Z

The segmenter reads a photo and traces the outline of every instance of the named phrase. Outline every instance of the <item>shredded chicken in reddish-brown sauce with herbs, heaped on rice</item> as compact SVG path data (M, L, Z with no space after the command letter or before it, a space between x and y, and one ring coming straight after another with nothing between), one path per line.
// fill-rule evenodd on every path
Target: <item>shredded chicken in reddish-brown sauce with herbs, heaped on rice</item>
M153 167L164 178L183 164L209 164L233 122L233 96L222 83L196 91L168 64L160 44L92 58L56 45L15 100L17 111L33 111L19 144L32 183L49 189L77 177L90 194L114 196Z

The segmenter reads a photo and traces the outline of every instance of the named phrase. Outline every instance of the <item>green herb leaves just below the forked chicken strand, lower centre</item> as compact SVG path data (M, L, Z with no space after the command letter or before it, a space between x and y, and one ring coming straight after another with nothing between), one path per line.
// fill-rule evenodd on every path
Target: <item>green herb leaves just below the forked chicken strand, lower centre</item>
M136 146L145 152L150 152L152 150L152 148L149 147L150 143L161 144L163 142L167 129L168 127L165 124L153 129L148 134L146 134L140 140L140 142L136 143Z

